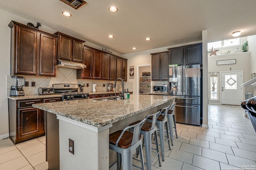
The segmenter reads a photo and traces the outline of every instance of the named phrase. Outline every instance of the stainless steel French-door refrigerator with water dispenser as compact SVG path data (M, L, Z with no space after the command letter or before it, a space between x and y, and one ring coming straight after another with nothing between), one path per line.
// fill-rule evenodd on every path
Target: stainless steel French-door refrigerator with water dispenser
M200 125L200 65L170 66L168 95L176 98L176 122Z

